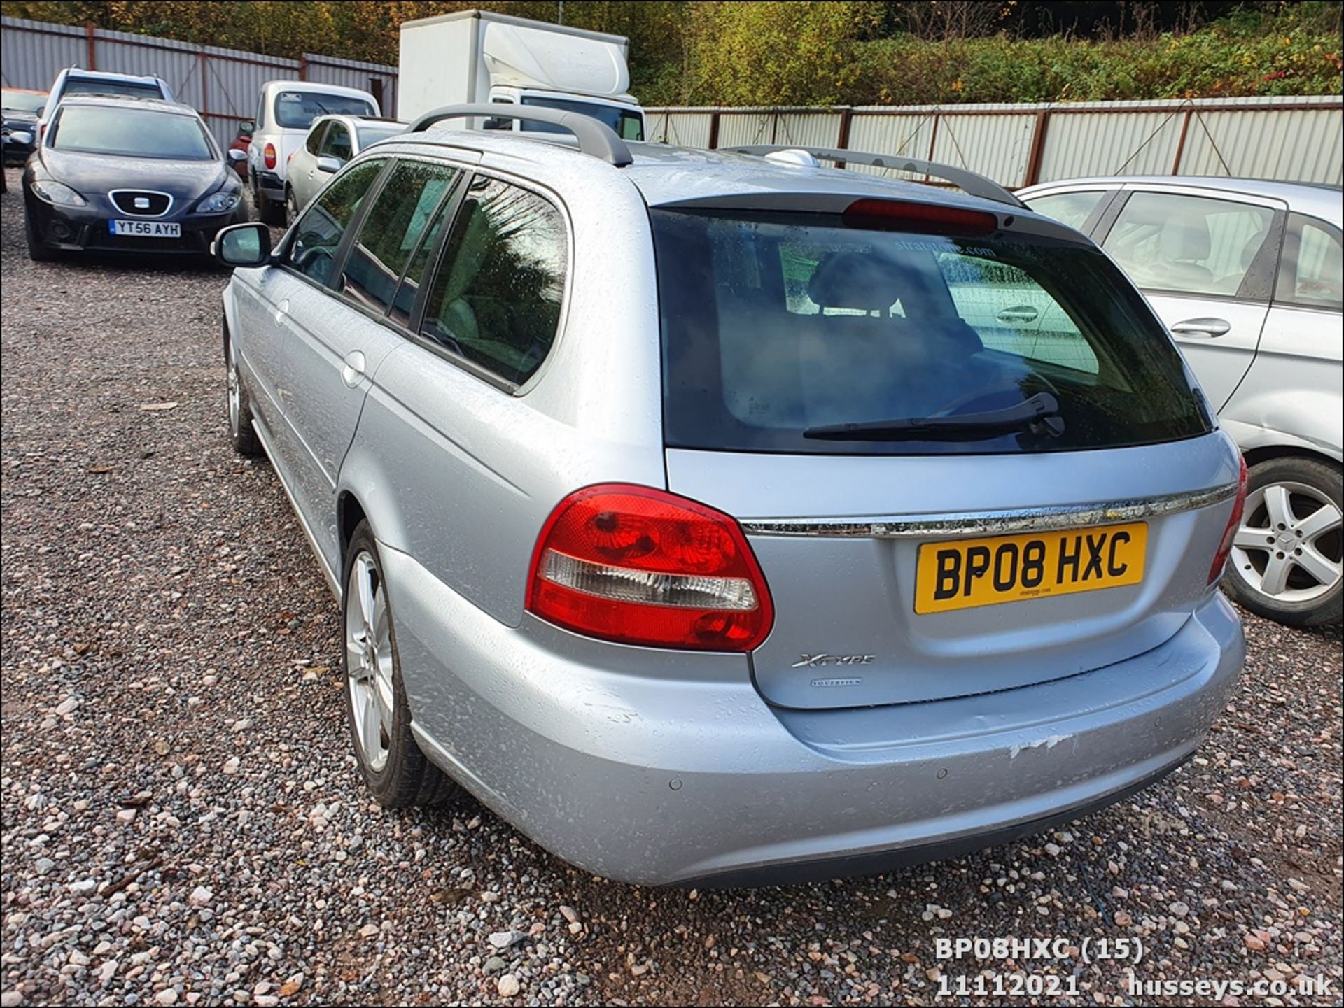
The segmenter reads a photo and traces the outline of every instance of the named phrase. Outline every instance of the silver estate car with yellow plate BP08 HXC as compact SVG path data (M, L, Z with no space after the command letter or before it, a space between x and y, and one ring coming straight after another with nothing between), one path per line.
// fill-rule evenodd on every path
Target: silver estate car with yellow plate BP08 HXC
M593 872L728 885L1191 756L1245 655L1245 470L1090 240L923 162L973 195L435 126L497 107L216 243L234 444L341 600L379 801L461 785Z

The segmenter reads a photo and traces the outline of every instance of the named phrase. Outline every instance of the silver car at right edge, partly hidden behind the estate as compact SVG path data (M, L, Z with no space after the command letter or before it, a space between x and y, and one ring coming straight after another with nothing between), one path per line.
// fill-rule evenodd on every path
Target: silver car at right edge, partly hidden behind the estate
M1223 587L1289 625L1340 620L1340 187L1111 176L1019 191L1090 235L1167 323L1250 467Z

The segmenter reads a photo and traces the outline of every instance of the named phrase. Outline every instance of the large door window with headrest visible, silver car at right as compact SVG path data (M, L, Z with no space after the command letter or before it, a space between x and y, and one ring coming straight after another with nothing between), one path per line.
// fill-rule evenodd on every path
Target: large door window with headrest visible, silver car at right
M1235 297L1273 221L1267 207L1136 192L1102 247L1144 290Z

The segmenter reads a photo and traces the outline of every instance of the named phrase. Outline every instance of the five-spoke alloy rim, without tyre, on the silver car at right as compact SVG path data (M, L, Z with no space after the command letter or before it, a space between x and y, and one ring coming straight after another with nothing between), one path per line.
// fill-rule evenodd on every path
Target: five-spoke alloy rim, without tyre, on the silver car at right
M1321 597L1340 581L1344 515L1306 483L1270 483L1250 493L1232 540L1236 577L1284 603Z

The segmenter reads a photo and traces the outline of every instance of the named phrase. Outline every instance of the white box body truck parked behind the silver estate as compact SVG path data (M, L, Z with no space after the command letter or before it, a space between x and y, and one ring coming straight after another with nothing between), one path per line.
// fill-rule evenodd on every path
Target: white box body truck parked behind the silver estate
M628 50L621 35L487 11L406 21L396 118L414 122L445 105L532 105L583 113L625 140L644 140L644 111L628 94ZM516 119L464 119L462 128L563 133Z

